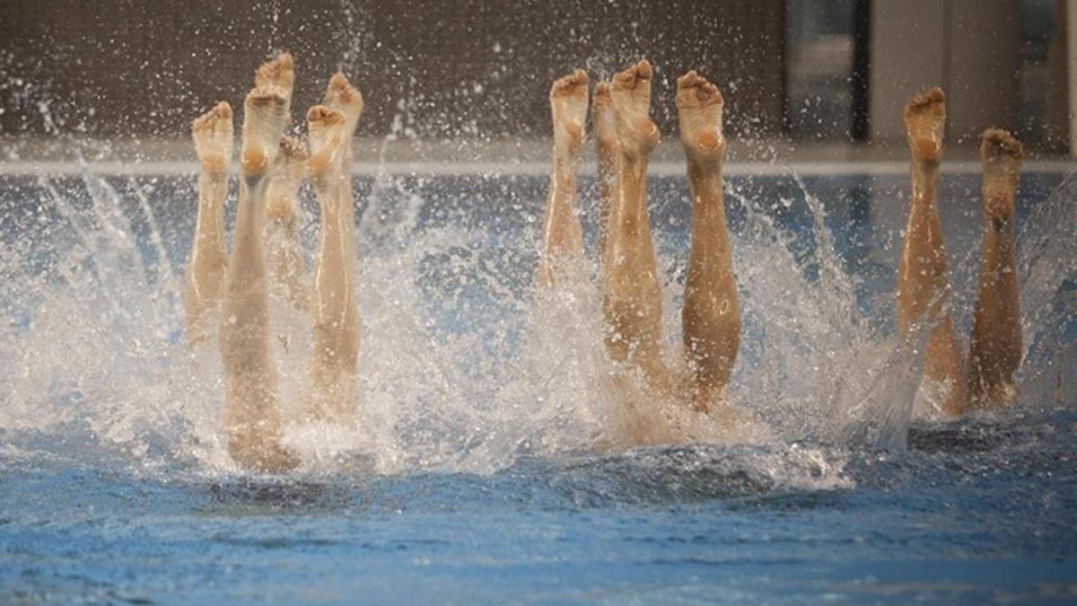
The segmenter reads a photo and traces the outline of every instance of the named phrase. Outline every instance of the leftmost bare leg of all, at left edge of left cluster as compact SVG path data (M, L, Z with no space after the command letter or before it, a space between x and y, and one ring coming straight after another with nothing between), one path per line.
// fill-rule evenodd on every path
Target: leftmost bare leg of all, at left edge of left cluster
M224 248L224 201L228 195L232 161L232 107L221 101L191 127L198 153L198 221L187 265L187 341L205 341L219 321L221 293L227 268Z

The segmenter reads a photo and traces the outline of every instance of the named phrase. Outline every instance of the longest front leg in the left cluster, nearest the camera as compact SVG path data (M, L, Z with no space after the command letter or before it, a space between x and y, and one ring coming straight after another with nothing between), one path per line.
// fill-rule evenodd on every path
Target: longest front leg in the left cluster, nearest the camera
M282 56L277 61L286 61L290 68L291 57ZM277 86L263 86L252 91L243 105L239 209L221 322L228 450L243 467L270 472L286 471L298 464L295 455L280 444L262 244L267 176L288 122L288 98Z

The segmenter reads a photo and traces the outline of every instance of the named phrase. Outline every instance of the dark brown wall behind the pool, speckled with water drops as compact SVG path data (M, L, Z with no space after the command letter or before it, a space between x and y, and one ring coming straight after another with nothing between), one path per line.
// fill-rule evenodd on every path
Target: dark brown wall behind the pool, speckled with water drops
M544 136L551 79L641 56L663 130L691 68L725 92L732 132L782 128L782 0L2 0L0 134L185 136L213 101L240 107L275 50L296 56L296 116L344 69L372 135Z

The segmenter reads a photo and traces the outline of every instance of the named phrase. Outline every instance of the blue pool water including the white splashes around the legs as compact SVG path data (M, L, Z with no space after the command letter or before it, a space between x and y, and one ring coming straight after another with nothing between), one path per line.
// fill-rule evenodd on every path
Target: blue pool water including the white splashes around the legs
M671 350L685 187L649 183ZM194 178L0 179L0 601L1077 598L1072 177L1019 192L1021 401L955 422L914 410L917 344L893 335L906 178L731 178L731 392L757 421L679 418L698 443L627 452L596 293L533 305L544 188L356 179L362 412L288 427L304 467L266 478L228 460L215 360L182 342ZM941 198L967 335L977 177ZM305 325L275 312L288 411Z

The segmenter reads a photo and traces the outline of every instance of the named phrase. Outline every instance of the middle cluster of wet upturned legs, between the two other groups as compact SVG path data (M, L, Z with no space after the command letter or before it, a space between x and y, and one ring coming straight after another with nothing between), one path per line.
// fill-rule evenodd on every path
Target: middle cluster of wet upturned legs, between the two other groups
M682 309L687 389L675 385L661 346L661 288L646 207L646 173L659 133L649 119L653 71L642 60L595 89L600 185L600 257L606 350L638 370L655 396L683 396L708 412L725 388L740 344L740 313L723 206L723 98L690 71L677 80L681 138L693 194L693 236ZM587 113L587 74L554 83L554 169L537 281L550 285L558 267L581 257L575 167Z

